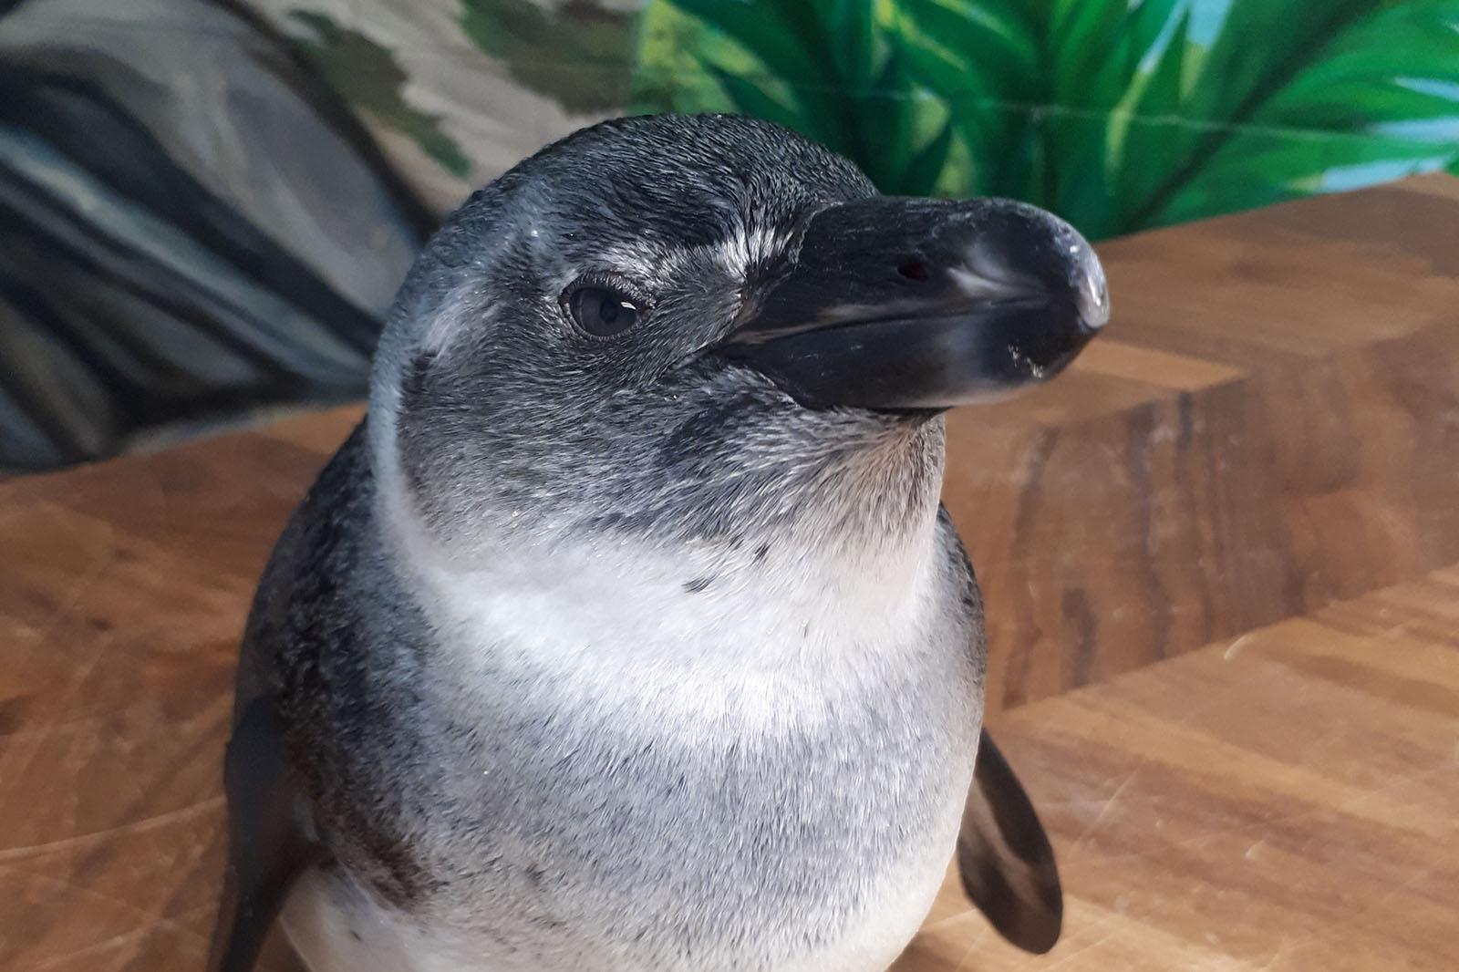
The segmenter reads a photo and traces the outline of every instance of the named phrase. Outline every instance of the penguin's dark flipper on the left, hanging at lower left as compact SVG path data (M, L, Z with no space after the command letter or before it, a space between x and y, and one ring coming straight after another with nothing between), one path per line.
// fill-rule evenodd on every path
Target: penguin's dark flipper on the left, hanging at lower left
M228 743L223 785L228 870L207 968L249 972L293 880L320 858L271 696L255 698L239 715Z

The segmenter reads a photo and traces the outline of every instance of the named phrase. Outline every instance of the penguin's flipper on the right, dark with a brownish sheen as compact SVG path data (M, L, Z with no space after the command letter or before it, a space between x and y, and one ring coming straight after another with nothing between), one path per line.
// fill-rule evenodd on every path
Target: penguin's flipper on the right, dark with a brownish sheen
M963 890L1004 938L1040 954L1059 940L1064 892L1053 848L986 730L963 809L957 868Z

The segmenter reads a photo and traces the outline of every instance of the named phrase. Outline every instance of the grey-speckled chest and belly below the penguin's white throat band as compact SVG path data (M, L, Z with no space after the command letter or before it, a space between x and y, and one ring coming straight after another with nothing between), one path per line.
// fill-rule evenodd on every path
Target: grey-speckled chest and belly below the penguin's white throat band
M966 651L854 680L515 684L419 781L401 829L432 890L301 892L301 952L352 956L314 972L880 972L931 908L972 779Z

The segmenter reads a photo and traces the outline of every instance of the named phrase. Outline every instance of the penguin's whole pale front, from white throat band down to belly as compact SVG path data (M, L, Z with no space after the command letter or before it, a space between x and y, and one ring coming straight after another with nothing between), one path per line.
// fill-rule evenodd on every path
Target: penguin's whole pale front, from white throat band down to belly
M816 549L416 556L451 731L400 829L442 880L311 876L314 972L886 968L956 842L976 635L934 524Z

